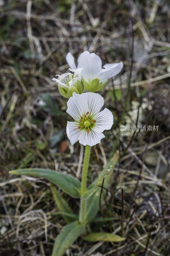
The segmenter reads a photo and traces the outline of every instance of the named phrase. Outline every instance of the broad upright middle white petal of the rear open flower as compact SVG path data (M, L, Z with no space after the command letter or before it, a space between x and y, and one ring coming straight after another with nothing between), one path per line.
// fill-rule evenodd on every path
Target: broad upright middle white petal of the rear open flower
M102 71L102 60L95 53L85 51L80 54L77 68L83 68L82 76L87 80L93 80Z

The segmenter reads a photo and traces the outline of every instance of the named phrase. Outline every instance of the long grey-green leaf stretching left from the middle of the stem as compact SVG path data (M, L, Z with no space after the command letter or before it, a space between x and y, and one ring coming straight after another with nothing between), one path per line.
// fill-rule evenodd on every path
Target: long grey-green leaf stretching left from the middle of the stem
M66 194L76 198L81 197L80 181L68 174L41 168L19 169L10 171L10 173L15 175L29 175L45 178L61 188Z

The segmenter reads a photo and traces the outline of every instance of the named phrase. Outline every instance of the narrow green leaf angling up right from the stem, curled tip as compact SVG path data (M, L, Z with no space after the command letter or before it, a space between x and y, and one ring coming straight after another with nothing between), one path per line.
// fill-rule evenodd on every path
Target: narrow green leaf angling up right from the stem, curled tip
M90 186L87 188L86 193L83 195L84 198L88 198L91 196L98 188L102 180L104 179L105 176L111 174L113 171L113 166L111 166L110 170L104 170L99 174L96 180L94 180L93 183L90 184Z

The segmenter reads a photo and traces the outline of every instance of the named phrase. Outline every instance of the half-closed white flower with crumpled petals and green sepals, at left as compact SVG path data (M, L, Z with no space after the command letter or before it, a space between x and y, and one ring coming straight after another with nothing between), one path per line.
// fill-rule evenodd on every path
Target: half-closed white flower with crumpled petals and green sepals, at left
M65 73L62 75L57 75L58 79L53 78L58 84L58 89L61 95L65 98L70 98L73 96L73 92L81 94L84 91L84 83L81 79L82 68L70 69L72 73Z

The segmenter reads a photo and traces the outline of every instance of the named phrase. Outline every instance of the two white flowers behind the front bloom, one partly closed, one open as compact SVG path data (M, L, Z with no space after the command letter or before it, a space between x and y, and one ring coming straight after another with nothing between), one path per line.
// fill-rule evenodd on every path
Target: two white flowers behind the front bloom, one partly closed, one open
M123 68L122 62L105 64L102 68L100 57L88 51L80 54L77 67L71 52L66 55L66 61L74 75L65 73L52 79L57 82L59 91L66 98L70 98L73 92L81 94L84 87L90 92L100 91L108 79L119 74Z

